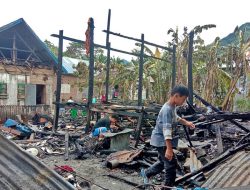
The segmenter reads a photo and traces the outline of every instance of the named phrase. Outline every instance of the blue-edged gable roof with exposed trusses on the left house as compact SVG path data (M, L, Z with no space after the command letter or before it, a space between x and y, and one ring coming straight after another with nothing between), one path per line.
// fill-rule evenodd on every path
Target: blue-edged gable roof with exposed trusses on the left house
M0 59L12 60L14 39L17 61L49 67L54 67L58 63L54 54L23 18L0 27ZM62 69L67 73L64 67Z

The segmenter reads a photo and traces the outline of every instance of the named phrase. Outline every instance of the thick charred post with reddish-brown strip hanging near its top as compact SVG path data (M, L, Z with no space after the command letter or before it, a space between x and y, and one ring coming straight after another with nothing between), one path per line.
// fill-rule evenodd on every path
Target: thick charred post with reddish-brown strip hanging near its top
M89 130L91 120L91 106L94 91L94 19L90 18L88 22L89 31L89 89L88 89L88 114L85 132Z

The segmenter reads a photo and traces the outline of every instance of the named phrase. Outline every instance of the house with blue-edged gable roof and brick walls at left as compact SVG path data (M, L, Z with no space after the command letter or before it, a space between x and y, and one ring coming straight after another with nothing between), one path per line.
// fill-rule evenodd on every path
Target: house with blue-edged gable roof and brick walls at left
M72 65L63 62L62 98L81 100ZM57 58L24 19L0 27L0 105L52 105L56 68Z

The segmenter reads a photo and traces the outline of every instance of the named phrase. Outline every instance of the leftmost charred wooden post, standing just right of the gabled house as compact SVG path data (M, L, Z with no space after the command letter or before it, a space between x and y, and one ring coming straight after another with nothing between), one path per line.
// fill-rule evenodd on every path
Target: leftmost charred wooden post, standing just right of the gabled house
M59 46L58 46L58 64L57 64L57 80L56 80L56 104L53 132L56 132L58 126L60 96L61 96L61 80L62 80L62 55L63 55L63 30L59 31Z

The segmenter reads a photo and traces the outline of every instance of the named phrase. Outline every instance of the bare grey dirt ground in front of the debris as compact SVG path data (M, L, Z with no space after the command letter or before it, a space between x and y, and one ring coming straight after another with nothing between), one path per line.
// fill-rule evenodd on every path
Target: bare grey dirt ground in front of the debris
M113 174L122 178L125 178L131 182L142 184L142 179L139 176L139 170L133 173L126 173L121 169L113 169L110 170L103 166L102 158L90 158L85 160L75 160L70 158L68 161L64 161L64 156L46 156L43 159L40 159L43 163L49 166L51 169L55 168L55 165L69 165L76 173L102 187L105 187L110 190L131 190L134 186L128 185L124 182L121 182L116 179L112 179L108 176L104 176L105 174ZM99 190L100 187L96 185L91 186L91 190Z

